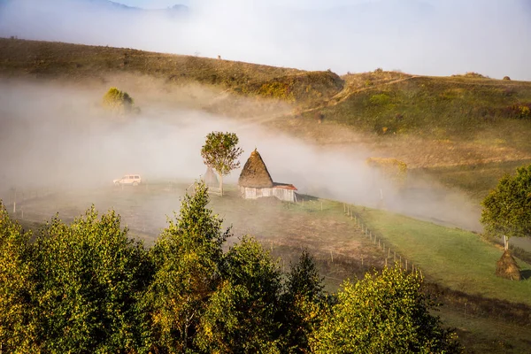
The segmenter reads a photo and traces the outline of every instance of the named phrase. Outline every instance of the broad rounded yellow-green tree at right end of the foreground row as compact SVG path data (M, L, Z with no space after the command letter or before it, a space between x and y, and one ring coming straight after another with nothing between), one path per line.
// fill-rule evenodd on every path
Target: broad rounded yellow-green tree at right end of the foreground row
M455 335L429 310L434 303L416 273L385 268L352 284L344 281L338 303L311 338L315 353L461 352Z

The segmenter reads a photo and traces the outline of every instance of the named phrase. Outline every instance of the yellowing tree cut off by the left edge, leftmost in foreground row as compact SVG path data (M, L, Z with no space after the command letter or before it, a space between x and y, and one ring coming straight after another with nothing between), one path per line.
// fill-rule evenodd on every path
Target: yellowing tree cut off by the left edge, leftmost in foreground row
M0 343L9 353L38 352L30 237L10 219L0 201Z

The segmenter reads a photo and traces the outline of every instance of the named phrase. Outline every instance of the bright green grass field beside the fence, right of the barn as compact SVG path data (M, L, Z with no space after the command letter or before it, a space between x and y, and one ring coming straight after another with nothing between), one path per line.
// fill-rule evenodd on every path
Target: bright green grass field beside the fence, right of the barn
M479 235L364 207L356 212L393 250L423 269L428 281L472 295L531 305L531 265L519 261L524 281L496 277L496 261L503 250Z

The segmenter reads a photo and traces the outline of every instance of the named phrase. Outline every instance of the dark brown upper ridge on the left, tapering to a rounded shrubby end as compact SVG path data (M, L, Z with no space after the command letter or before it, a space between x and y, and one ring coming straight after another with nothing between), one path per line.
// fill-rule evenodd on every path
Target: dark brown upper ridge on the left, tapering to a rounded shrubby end
M250 95L294 101L326 99L342 89L331 72L256 65L222 59L152 53L128 48L0 39L0 73L82 80L108 73L138 73L181 85L198 82Z

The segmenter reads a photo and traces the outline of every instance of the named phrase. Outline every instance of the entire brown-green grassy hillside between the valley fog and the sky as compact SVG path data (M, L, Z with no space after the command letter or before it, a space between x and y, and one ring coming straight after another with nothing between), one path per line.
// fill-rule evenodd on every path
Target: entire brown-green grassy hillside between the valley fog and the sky
M464 189L477 201L504 173L531 161L531 82L381 69L339 77L222 59L0 39L0 76L111 84L109 78L121 73L156 78L165 89L190 83L215 89L197 109L254 117L317 144L365 145L373 156L404 160L412 173ZM271 99L289 108L268 108Z

